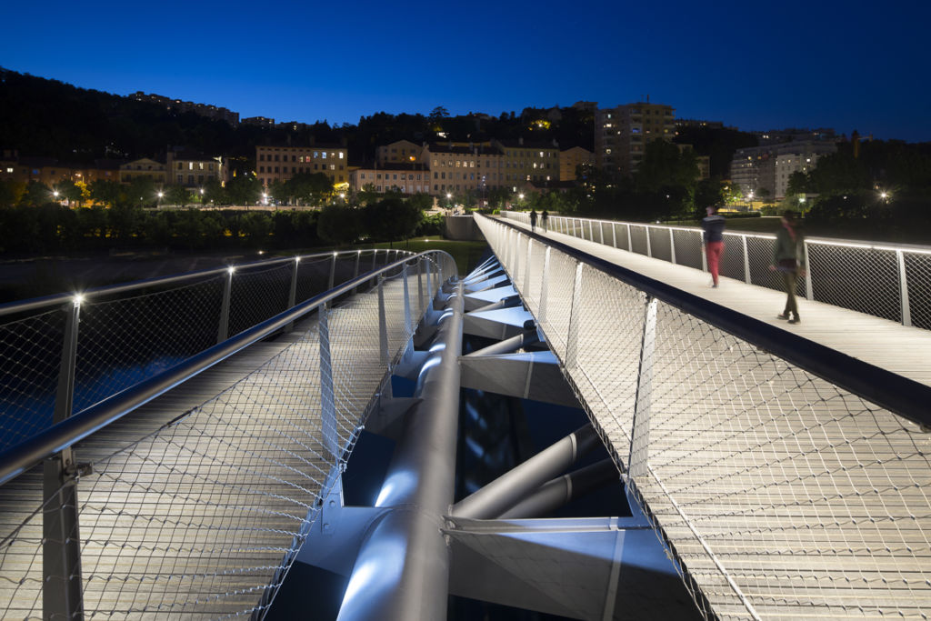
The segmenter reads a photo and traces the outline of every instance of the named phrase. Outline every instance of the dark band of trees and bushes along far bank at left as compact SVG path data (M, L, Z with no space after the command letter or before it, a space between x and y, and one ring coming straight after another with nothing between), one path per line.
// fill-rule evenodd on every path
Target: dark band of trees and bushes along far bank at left
M442 223L427 218L416 200L385 196L367 205L324 209L143 209L0 207L0 254L38 254L114 248L173 250L300 249L322 245L395 242L438 235Z

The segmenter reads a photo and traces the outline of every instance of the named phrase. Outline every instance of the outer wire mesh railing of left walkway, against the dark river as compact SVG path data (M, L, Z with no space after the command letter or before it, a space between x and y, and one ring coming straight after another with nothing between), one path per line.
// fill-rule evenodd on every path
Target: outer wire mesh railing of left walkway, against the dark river
M376 261L385 265L410 254L325 253L88 291L75 322L72 411L153 377L332 284L370 271ZM360 263L359 257L366 261ZM55 296L0 307L0 320L6 320L0 325L0 429L5 431L0 450L52 424L73 300Z

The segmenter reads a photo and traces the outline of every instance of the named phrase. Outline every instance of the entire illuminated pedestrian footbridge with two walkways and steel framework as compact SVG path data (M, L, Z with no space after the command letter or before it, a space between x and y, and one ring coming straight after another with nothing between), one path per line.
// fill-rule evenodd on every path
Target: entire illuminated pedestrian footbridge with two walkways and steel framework
M927 618L931 252L808 242L789 326L766 236L712 290L694 229L476 222L466 277L365 250L0 307L2 616L264 618L303 562L340 619ZM461 386L591 425L454 498ZM346 506L363 428L397 449ZM630 518L547 518L617 479Z

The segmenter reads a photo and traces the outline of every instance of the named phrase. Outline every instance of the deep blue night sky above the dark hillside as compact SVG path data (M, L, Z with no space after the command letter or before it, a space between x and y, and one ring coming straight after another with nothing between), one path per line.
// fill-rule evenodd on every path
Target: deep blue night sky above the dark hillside
M570 12L567 12L570 11ZM0 65L278 121L650 100L931 141L931 3L7 3Z

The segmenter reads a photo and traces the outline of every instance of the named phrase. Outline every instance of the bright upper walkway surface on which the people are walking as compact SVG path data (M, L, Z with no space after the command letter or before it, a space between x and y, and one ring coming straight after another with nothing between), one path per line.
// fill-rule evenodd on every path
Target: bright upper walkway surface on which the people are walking
M530 230L530 226L514 220L504 222ZM536 232L542 233L539 226ZM921 384L931 385L931 331L906 327L888 319L830 304L810 302L804 298L798 299L802 321L789 324L776 318L786 302L786 294L783 292L748 285L727 277L721 277L720 286L713 289L710 287L711 277L692 267L651 259L635 252L618 250L554 231L543 235L749 317L761 319L776 328L793 332L852 358Z

